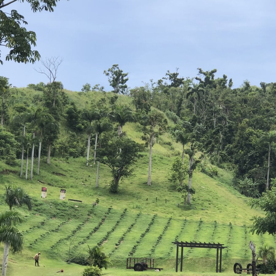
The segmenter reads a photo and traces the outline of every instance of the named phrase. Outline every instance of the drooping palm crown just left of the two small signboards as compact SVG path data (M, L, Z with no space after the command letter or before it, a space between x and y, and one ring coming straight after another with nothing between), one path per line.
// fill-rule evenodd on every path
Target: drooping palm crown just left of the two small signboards
M21 187L12 187L11 185L5 186L5 201L9 205L10 210L13 206L26 205L29 211L32 210L31 197Z

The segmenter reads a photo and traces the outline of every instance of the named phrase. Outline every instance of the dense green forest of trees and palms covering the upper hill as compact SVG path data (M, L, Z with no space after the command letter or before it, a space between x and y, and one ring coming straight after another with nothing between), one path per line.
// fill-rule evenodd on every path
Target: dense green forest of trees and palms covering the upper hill
M257 87L246 80L233 89L233 80L226 75L216 78L216 72L198 68L195 78L184 78L177 69L173 73L167 71L157 81L130 89L126 84L128 73L115 64L104 72L112 92L105 92L100 85L91 89L89 83L80 92L74 92L78 96L94 95L85 106L69 97L62 82L51 79L51 75L47 84L29 84L27 88L12 87L9 79L2 76L0 158L8 164L21 159L21 177L32 179L34 158L38 160L35 173L39 174L41 156L47 156L48 164L51 157L87 156L86 166L97 160L111 168L114 182L111 191L118 192L121 176L132 173L129 166L142 151L138 145L128 144L131 141L126 140L123 132L125 123L132 121L144 133L142 139L150 152L159 135L165 132L180 142L183 156L184 153L189 156L186 169L189 178L199 164L201 171L216 174L215 167L204 165L208 160L233 170L235 185L242 194L259 197L276 177L276 83L261 82ZM119 104L118 94L130 100ZM125 140L116 142L114 137ZM122 144L127 144L123 153ZM107 151L112 147L119 150ZM122 161L122 157L120 164L108 163L111 156L118 159L117 152L128 155L130 148L136 156L132 160ZM90 157L92 154L94 158ZM26 159L24 172L23 159Z

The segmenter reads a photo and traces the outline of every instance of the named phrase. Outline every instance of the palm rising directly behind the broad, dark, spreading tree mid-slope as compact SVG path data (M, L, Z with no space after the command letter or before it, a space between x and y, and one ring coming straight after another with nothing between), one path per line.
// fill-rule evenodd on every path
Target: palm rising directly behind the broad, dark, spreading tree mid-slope
M126 105L115 106L111 113L111 118L118 123L118 136L123 133L123 126L127 122L134 121L133 111Z

